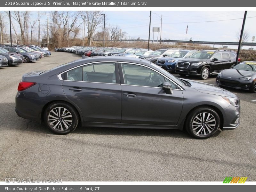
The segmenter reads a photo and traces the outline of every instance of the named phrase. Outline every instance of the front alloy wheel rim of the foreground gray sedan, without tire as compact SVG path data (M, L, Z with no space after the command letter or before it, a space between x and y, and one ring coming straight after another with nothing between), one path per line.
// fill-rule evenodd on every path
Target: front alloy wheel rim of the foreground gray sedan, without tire
M208 135L216 127L216 119L211 113L200 113L192 121L192 129L197 135Z

